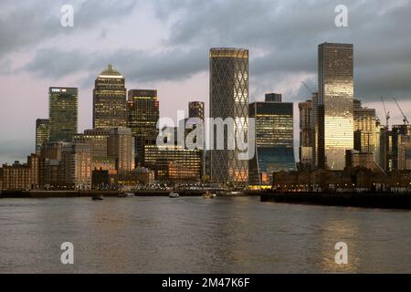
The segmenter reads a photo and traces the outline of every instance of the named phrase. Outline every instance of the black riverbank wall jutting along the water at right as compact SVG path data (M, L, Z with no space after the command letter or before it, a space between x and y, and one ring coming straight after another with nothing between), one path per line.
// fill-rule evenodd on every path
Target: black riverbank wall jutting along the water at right
M411 210L411 193L265 193L261 202Z

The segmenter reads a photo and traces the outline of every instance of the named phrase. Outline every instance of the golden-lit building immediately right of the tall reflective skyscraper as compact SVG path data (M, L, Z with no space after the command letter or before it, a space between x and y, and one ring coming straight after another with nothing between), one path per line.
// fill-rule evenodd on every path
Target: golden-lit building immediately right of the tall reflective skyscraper
M360 100L354 100L354 150L363 153L375 153L376 130L375 110L363 108Z

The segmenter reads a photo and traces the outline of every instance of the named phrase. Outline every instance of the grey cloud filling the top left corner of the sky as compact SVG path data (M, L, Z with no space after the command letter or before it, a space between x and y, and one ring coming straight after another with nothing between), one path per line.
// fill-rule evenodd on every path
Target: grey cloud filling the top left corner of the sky
M41 45L59 35L82 33L103 22L119 22L132 13L137 0L74 0L75 26L60 26L61 5L67 1L37 0L24 1L12 6L1 4L0 14L0 57L11 52Z

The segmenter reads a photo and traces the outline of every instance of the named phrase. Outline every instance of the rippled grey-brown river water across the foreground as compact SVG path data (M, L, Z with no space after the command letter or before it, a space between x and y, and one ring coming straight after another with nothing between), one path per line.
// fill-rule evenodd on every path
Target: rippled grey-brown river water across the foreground
M74 265L60 246L74 245ZM335 263L339 242L348 264ZM0 273L411 273L411 212L259 198L0 200Z

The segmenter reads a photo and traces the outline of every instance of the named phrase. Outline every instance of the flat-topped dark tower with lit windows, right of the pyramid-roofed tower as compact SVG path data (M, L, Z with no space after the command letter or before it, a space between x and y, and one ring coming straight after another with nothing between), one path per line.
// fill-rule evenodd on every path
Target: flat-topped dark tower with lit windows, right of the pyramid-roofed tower
M144 140L156 139L159 133L157 122L160 119L160 103L157 90L129 90L127 116L127 125L132 129L132 136L135 140L135 162L144 165Z

